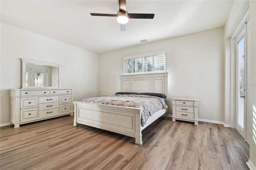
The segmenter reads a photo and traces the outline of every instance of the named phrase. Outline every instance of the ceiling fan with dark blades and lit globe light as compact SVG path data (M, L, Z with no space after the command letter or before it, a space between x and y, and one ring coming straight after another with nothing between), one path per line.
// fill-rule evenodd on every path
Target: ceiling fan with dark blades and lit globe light
M129 18L153 19L155 14L131 14L126 11L126 0L119 0L119 11L117 14L90 13L92 16L115 16L120 23L121 31L125 31Z

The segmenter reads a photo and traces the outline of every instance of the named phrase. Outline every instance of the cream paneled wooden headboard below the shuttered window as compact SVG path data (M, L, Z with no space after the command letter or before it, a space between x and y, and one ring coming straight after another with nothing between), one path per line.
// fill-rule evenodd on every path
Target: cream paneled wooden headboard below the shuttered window
M120 91L163 93L167 97L168 73L120 75Z

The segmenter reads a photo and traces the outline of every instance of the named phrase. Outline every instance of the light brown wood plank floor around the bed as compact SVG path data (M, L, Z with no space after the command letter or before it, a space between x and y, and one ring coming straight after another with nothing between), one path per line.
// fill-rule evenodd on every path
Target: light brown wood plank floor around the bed
M160 118L134 138L73 126L71 116L0 128L1 170L248 170L230 128Z

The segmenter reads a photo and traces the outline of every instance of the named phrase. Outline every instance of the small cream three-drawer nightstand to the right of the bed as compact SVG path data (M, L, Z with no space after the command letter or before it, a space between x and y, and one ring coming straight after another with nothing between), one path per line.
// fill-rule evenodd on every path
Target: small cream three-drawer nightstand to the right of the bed
M198 99L172 98L172 121L182 120L198 125Z

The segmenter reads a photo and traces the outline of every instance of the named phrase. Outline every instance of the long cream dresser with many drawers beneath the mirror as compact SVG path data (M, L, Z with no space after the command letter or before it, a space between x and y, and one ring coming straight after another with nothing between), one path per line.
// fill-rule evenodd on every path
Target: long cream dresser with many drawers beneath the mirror
M73 115L74 89L11 89L11 124L25 123L63 115Z

